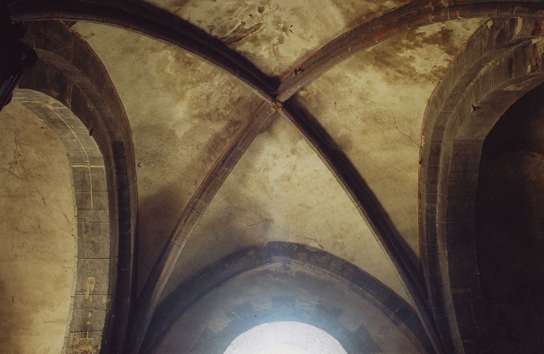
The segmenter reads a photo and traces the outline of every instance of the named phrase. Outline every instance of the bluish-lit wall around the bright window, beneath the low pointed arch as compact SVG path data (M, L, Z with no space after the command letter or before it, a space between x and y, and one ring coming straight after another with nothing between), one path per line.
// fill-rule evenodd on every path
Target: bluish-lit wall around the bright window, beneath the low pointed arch
M223 354L246 330L277 321L320 328L350 354L422 352L385 313L349 287L286 263L249 269L213 287L187 306L149 352Z

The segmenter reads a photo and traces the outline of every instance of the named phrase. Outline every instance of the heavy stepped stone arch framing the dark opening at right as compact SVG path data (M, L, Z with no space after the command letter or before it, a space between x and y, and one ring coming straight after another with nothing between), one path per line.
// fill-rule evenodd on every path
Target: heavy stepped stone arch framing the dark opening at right
M481 149L500 116L544 81L542 21L490 20L429 99L419 166L419 232L429 303L448 352L479 352L486 318L475 246Z

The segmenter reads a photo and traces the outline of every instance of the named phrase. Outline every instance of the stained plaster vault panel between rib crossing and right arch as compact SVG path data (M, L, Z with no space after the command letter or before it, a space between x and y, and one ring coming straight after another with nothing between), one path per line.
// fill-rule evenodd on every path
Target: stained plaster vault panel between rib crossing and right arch
M436 23L351 56L295 96L317 118L419 255L417 173L423 113L478 18Z

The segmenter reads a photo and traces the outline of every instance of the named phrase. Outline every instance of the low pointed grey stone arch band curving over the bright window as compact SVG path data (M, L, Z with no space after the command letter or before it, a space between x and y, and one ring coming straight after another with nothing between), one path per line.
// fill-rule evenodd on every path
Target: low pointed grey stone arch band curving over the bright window
M181 283L157 307L141 353L152 353L172 325L202 296L239 274L276 263L302 267L349 287L384 313L410 338L419 351L434 352L413 307L373 276L320 249L290 242L268 242L235 252L208 265ZM282 320L286 318L282 317ZM248 329L248 326L257 324L257 320L250 320L244 326L232 325L232 331L228 330L229 337L225 338L234 339L243 332L243 328ZM342 342L346 338L337 339Z

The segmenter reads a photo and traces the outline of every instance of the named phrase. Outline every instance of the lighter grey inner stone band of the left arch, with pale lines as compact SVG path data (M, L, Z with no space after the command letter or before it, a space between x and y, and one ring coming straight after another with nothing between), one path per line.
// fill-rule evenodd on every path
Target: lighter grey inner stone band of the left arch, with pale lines
M65 345L75 345L83 340L81 333L88 330L84 320L88 318L85 307L89 304L86 302L94 300L94 308L98 311L93 312L89 321L91 331L95 333L90 334L91 340L86 339L86 345L97 349L103 340L97 336L104 329L100 324L107 323L108 316L107 302L101 299L110 293L110 269L116 266L110 259L117 256L112 249L112 241L117 235L110 230L107 197L103 197L108 187L102 154L81 120L58 100L45 93L25 89L15 90L13 100L47 124L68 155L75 192L77 262ZM63 349L67 350L67 347Z

